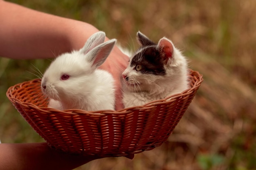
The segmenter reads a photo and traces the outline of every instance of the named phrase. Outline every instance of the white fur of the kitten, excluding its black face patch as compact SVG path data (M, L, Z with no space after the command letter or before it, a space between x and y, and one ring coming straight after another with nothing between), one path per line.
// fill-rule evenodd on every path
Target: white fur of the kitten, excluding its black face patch
M168 40L167 38L162 39ZM171 42L170 40L168 41ZM173 57L168 59L167 64L164 65L166 70L165 75L143 74L136 71L136 65L130 66L132 58L135 55L130 57L130 63L123 72L123 103L125 108L140 106L154 100L164 99L168 96L181 93L188 88L186 59L181 52L175 48L172 42L171 44L173 46ZM137 53L141 50L137 51ZM129 77L128 81L125 80L126 76Z

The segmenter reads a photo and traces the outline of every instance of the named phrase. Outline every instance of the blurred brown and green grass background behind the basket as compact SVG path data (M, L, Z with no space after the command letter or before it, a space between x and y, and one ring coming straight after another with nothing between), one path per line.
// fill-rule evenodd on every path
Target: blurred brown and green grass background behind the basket
M105 158L76 170L256 170L255 0L9 0L82 20L137 48L138 30L163 36L187 56L204 82L168 141L127 158ZM7 16L8 17L8 16ZM8 101L9 86L36 78L49 60L0 58L0 139L43 141ZM34 65L34 66L33 66Z

